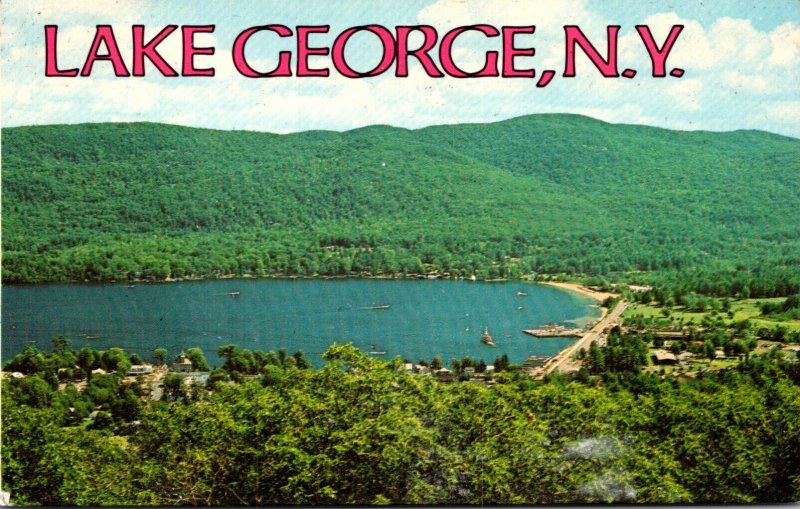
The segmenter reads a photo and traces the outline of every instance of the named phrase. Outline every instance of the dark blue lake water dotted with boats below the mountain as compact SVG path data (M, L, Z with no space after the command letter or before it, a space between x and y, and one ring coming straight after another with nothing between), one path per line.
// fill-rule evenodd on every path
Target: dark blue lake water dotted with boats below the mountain
M228 292L241 292L237 297ZM517 292L526 295L518 295ZM554 355L572 339L537 339L522 329L544 323L583 325L600 316L590 299L530 283L416 280L216 280L166 284L36 285L2 288L2 357L28 344L51 349L63 335L78 349L112 346L151 359L203 349L221 365L218 346L303 350L315 366L333 342L414 362L439 355L487 364ZM365 309L390 305L388 309ZM495 347L481 342L488 327Z

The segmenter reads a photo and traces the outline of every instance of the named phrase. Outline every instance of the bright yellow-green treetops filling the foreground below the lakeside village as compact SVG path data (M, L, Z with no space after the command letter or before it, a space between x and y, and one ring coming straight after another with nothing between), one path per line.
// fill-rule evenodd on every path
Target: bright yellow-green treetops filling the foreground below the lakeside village
M38 375L4 381L3 488L46 505L800 498L800 370L779 356L685 383L502 374L492 387L409 375L349 345L325 358L146 403L116 425L27 404Z

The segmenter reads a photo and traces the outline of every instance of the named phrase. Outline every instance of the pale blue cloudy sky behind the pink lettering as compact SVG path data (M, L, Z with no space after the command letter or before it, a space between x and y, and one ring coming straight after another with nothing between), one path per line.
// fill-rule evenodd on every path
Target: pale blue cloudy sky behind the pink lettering
M375 5L379 4L379 5ZM330 46L344 28L379 23L430 24L440 37L459 25L487 23L536 25L536 33L518 38L520 47L535 47L534 57L517 59L518 67L557 71L546 88L535 79L433 79L419 66L411 76L392 73L351 80L332 72L330 78L247 79L230 57L233 40L253 25L280 23L330 24L331 31L314 39ZM94 26L111 24L130 67L130 26L144 24L148 36L167 24L215 24L214 34L199 36L213 45L214 78L164 78L152 66L144 78L116 78L107 62L96 64L89 78L44 76L44 25L59 26L59 64L80 67ZM622 26L620 70L637 69L633 79L606 79L579 57L578 76L563 78L565 24L580 25L605 50L605 27ZM651 27L662 42L669 28L683 24L668 59L669 68L686 71L682 78L650 77L649 59L634 29ZM148 37L149 38L149 37ZM4 2L0 72L4 126L155 121L219 129L293 132L307 129L346 130L369 124L418 128L458 122L491 122L534 113L568 112L614 123L647 124L672 129L727 131L762 129L800 138L800 2L771 0L627 0L411 2L183 2L84 0ZM273 38L277 40L277 38ZM263 69L274 66L279 50L291 40L274 42L254 37L248 59ZM500 49L499 38L465 36L454 58L462 67L480 67L487 50ZM180 67L179 34L160 53ZM378 60L375 39L353 39L348 61L354 66ZM350 60L352 59L352 60ZM327 57L313 63L331 67ZM149 65L149 64L148 64Z

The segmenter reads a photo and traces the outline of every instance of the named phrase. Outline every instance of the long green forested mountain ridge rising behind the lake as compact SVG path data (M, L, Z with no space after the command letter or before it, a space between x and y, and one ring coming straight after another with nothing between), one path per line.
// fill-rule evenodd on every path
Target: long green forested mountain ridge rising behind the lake
M536 115L2 134L6 282L800 267L800 140L764 132Z

